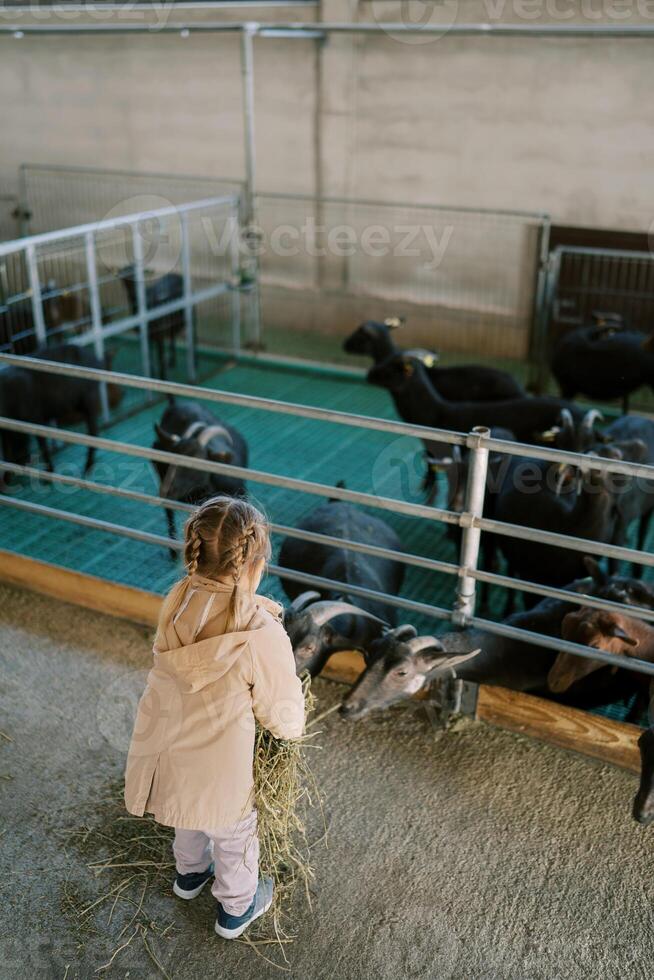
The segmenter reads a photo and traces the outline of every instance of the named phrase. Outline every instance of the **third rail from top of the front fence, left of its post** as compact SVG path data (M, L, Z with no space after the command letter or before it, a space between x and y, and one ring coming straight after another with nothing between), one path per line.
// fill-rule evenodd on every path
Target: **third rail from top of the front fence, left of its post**
M6 463L2 461L0 469L5 472L16 473L19 476L32 477L39 481L46 480L48 483L58 483L79 490L90 490L91 492L112 497L120 497L122 500L130 500L134 503L180 511L184 514L192 514L197 510L194 504L185 504L179 500L170 500L168 497L157 497L154 494L143 493L141 490L125 490L123 487L114 487L109 483L96 483L93 480L70 476L67 473L50 473L48 470L39 470L33 466L21 466L19 463ZM328 546L332 545L337 548L345 548L346 551L355 551L363 555L373 555L376 558L388 558L391 561L399 561L405 565L414 565L432 572L443 572L449 575L459 574L459 566L451 562L437 561L434 558L423 558L421 555L412 555L406 551L394 551L391 548L380 548L376 545L362 544L359 541L350 541L347 538L335 538L331 534L305 531L297 527L287 527L285 524L270 522L268 526L274 534L283 534L285 537L297 538L300 541L309 541L313 544ZM654 618L654 612L652 613L652 617Z

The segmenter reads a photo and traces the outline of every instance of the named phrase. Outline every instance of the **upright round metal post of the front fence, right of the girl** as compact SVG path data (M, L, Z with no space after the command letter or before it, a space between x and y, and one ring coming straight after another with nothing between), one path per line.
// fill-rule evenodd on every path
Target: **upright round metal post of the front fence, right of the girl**
M459 522L463 528L463 536L459 557L457 599L452 611L452 622L457 626L465 626L466 621L474 615L475 611L476 581L466 573L474 571L479 561L481 530L475 526L475 519L482 517L484 512L488 473L488 449L482 446L480 441L482 438L488 438L489 435L490 429L479 425L472 430L466 440L470 450L470 465L466 482L465 507Z

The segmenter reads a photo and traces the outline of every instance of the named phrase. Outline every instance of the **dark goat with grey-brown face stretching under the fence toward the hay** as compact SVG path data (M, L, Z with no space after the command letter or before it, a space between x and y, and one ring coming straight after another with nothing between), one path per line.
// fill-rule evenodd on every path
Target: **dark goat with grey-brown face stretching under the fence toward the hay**
M580 579L568 585L570 601L543 599L527 612L514 613L504 622L519 629L531 630L545 636L560 637L564 617L576 609L575 594L596 595L612 601L624 601L625 595L645 599L634 605L654 607L654 592L643 590L642 583L630 579L603 576L596 563L588 560L592 578ZM373 709L383 709L405 700L421 688L429 686L443 670L454 664L436 660L432 665L425 659L433 646L433 637L416 637L412 626L400 626L384 634L368 648L367 667L341 706L341 714L349 719L362 718ZM442 655L470 657L467 663L456 666L457 678L476 683L494 684L516 691L547 690L547 676L556 659L553 650L523 640L499 636L487 630L466 629L446 633L438 638ZM480 649L481 652L475 653ZM606 701L606 681L595 681L586 693L577 694L577 703Z

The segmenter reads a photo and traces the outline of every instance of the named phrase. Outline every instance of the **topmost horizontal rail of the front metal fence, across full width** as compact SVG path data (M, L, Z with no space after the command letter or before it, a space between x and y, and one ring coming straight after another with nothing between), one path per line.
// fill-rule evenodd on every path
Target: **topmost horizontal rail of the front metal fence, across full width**
M157 307L156 311L164 309ZM144 378L134 374L123 374L118 371L105 371L100 368L81 367L77 364L63 364L59 361L47 361L44 358L26 357L18 354L0 354L0 364L12 364L15 367L29 368L52 374L62 374L72 378L88 378L92 381L108 381L111 384L126 388L141 388L144 391L156 391L160 394L177 395L180 398L201 398L204 401L222 402L226 405L240 405L245 408L261 409L269 412L279 412L283 415L295 415L298 418L316 419L323 422L335 422L360 429L374 429L377 432L390 432L397 435L413 436L427 442L445 442L453 446L467 446L470 443L469 433L454 432L451 429L438 429L426 425L413 425L409 422L399 422L394 419L379 419L371 415L354 415L349 412L339 412L330 408L316 408L313 405L302 405L296 402L283 402L273 398L261 398L259 395L242 395L232 391L221 391L217 388L198 388L197 385L182 384L177 381L161 381L157 378ZM506 439L495 439L492 436L475 434L475 446L505 453L508 456L544 459L553 463L570 463L578 469L593 469L605 473L619 473L624 476L640 477L654 481L654 466L642 463L627 463L605 459L603 456L592 456L586 453L573 453L563 449L549 449L546 446L532 446L527 443L509 442ZM653 488L654 489L654 488Z

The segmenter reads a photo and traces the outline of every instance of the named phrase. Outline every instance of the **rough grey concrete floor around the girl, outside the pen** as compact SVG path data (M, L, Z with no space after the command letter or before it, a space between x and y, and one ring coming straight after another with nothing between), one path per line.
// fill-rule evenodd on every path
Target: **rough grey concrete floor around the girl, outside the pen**
M0 650L0 728L12 739L0 739L0 974L161 976L140 941L96 974L122 926L103 904L80 930L63 901L71 888L107 890L67 832L92 821L121 775L147 631L2 586ZM319 710L342 693L315 690ZM288 976L651 976L654 830L631 821L632 775L481 724L434 733L419 708L321 727L314 767L330 832ZM174 922L150 940L171 978L282 975L213 936L208 895L182 906L162 888L150 901Z

